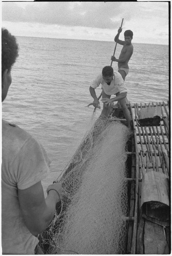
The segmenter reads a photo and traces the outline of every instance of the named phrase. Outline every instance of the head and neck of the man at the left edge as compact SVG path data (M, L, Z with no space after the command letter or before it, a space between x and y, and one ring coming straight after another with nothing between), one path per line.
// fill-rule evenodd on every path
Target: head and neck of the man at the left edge
M11 68L18 56L18 45L13 35L2 28L2 101L11 84Z

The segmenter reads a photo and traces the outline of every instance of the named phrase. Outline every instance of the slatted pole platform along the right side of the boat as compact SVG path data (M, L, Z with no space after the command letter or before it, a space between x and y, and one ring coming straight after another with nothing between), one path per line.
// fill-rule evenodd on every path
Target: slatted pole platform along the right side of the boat
M159 125L140 125L140 109L159 106ZM169 195L169 105L168 102L134 104L135 209L137 226L131 253L170 253L170 195ZM138 201L137 201L138 200ZM136 240L135 240L136 238Z

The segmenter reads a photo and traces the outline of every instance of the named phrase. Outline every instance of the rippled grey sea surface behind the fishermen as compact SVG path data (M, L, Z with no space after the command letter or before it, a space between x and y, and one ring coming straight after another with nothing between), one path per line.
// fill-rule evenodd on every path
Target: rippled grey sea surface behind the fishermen
M110 66L115 42L17 37L19 57L2 115L31 133L51 159L52 183L68 165L82 138L99 117L89 93L92 80ZM165 45L135 44L125 83L133 103L167 102L169 49ZM117 45L118 58L122 46ZM117 62L112 67L117 71ZM96 89L101 94L101 87ZM103 103L101 103L101 109Z

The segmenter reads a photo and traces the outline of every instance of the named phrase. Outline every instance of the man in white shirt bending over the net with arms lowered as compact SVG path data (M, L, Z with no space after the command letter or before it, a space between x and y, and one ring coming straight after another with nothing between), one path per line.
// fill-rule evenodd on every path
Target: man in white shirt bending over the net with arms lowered
M93 80L89 91L94 99L93 106L95 108L97 108L100 104L95 93L95 89L99 87L100 84L102 84L102 101L104 103L101 116L108 116L109 103L119 100L127 120L128 127L130 130L132 130L132 118L126 104L127 88L125 87L124 80L122 79L121 75L118 72L114 72L111 66L106 66L103 68L102 73ZM111 95L114 94L116 97L110 99Z

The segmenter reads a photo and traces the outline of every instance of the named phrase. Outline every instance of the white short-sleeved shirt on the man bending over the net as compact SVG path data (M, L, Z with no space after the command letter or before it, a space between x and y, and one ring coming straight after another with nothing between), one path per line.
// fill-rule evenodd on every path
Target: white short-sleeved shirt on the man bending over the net
M119 93L127 92L127 88L124 84L124 80L123 80L122 76L119 74L119 72L114 72L113 74L114 74L114 76L113 76L113 79L109 86L103 79L103 76L101 73L99 76L97 76L93 80L91 87L96 89L98 86L100 86L100 84L102 84L102 89L107 95L113 95L118 92Z

